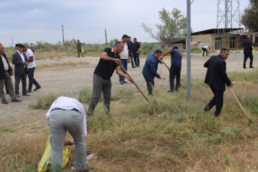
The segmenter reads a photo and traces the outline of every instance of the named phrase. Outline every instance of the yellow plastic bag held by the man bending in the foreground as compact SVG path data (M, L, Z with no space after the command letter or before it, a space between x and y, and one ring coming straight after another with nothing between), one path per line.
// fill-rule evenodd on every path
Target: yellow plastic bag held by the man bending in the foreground
M47 142L45 143L45 150L42 155L41 160L39 161L38 171L50 171L51 170L51 155L52 149L50 144L50 135L48 135ZM63 148L63 164L62 167L66 166L67 162L69 161L68 156L68 148Z

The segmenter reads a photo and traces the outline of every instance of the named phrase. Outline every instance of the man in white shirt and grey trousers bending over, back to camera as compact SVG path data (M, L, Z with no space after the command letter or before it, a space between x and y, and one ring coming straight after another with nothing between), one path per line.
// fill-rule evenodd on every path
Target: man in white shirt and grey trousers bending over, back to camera
M52 171L58 171L63 162L63 147L75 144L76 169L89 171L86 160L87 122L83 105L74 98L61 96L54 100L46 114L50 125L50 144L52 147ZM68 131L72 140L65 140Z

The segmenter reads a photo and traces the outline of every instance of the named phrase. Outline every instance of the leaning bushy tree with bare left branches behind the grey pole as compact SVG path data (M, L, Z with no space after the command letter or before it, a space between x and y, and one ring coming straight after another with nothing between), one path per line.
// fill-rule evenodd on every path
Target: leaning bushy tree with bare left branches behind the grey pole
M173 8L171 12L162 8L158 12L162 24L155 24L156 32L153 31L145 23L141 27L147 32L151 38L157 39L162 45L168 45L171 41L178 41L184 38L186 34L186 17L177 8Z

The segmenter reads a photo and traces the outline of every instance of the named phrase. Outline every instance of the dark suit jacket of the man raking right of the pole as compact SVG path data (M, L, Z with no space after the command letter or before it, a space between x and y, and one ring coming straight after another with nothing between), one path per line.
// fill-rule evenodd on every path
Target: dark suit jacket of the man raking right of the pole
M208 84L213 89L217 89L221 92L225 92L226 85L230 85L231 81L226 74L226 61L221 55L211 56L204 67L207 67L207 73L204 83Z

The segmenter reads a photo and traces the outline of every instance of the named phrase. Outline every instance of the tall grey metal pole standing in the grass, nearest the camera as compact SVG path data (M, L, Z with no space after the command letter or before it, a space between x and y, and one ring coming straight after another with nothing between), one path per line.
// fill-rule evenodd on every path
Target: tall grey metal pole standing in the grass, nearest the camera
M194 1L194 0L193 0ZM191 2L186 0L187 9L187 100L191 99Z

